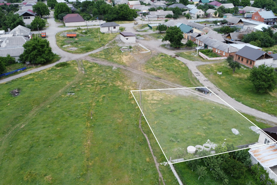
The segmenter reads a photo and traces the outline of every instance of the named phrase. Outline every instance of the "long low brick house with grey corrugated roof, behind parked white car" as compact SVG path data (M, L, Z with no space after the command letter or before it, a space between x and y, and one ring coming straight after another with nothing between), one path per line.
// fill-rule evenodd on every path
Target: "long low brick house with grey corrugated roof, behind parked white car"
M211 38L210 36L212 35L214 34L197 37L195 43L207 49L212 49L214 53L217 53L222 57L235 56L235 53L239 51L239 49L232 47L229 44Z

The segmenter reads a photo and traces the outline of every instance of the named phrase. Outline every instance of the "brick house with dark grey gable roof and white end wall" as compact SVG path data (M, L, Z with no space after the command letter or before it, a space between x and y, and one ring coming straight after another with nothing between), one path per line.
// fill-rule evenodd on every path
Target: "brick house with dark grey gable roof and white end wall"
M244 46L235 54L235 61L250 68L253 68L253 66L257 67L261 64L270 66L273 62L273 57L267 54L265 51L254 49L249 46Z

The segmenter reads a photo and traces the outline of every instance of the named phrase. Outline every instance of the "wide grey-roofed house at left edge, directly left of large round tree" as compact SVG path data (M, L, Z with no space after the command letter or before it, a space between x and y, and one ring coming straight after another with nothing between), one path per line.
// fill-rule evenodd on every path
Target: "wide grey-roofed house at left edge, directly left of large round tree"
M18 61L19 56L24 51L23 45L29 40L29 38L24 36L6 37L0 45L0 56L6 57L9 54Z

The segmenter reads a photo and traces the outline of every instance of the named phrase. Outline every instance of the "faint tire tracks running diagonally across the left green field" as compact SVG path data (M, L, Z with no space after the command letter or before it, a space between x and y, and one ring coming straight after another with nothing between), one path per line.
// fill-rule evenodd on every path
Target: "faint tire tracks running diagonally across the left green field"
M78 64L78 68L80 68L79 63L78 62L76 62L76 63ZM68 89L72 84L75 84L76 82L78 82L83 75L84 75L84 72L81 70L78 70L78 73L77 73L75 79L73 79L66 86L64 86L63 88L58 90L53 96L49 97L46 101L41 103L39 106L35 107L35 109L31 110L31 112L29 112L29 114L20 123L18 123L12 129L10 129L8 134L6 134L3 138L0 138L0 159L3 158L4 150L7 148L6 147L7 140L9 138L11 138L12 136L14 136L15 134L17 134L22 128L24 129L24 126L26 126L28 124L28 121L30 121L34 116L36 116L36 114L38 112L40 112L40 110L42 110L42 108L44 108L51 101L55 100L57 97L59 97L61 94L63 94L63 92L66 89ZM0 165L1 164L2 164L2 161L0 160Z

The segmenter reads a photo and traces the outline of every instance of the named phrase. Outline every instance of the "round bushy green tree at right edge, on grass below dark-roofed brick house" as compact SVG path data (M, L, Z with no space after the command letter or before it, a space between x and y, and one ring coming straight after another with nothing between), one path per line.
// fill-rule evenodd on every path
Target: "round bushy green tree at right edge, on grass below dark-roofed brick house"
M277 84L277 74L274 68L265 64L259 67L254 66L247 79L253 83L254 90L260 93L265 90L272 92Z

